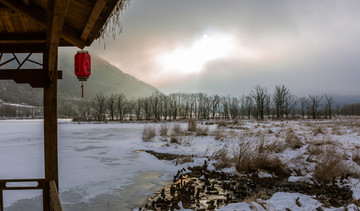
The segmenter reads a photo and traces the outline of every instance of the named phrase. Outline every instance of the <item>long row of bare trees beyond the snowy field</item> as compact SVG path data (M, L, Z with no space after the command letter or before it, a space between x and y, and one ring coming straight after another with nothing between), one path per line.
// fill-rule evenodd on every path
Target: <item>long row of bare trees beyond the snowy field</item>
M127 99L124 94L106 97L98 94L79 106L85 120L176 120L255 118L332 118L334 99L328 95L296 97L284 85L275 86L271 94L266 87L254 86L241 97L205 93L155 92L149 97Z

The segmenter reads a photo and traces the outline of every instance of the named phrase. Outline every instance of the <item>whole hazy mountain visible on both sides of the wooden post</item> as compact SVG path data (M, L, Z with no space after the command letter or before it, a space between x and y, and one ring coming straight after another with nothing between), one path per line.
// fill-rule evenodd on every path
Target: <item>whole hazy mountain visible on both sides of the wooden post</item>
M84 97L91 99L102 92L104 95L124 93L128 98L150 96L157 89L139 81L111 65L96 55L91 55L92 72L84 82ZM27 68L24 65L24 68ZM60 100L79 100L81 82L74 74L74 54L59 53L59 70L63 79L59 80ZM32 89L28 84L16 84L14 81L0 80L0 99L12 103L42 105L42 89Z

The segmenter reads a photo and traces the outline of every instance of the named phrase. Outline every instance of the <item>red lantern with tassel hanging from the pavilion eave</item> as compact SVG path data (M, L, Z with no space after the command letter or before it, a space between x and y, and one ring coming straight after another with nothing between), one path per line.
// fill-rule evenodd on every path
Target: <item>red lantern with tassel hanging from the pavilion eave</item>
M75 55L75 75L81 81L81 96L84 97L83 81L91 74L91 57L88 51L80 50Z

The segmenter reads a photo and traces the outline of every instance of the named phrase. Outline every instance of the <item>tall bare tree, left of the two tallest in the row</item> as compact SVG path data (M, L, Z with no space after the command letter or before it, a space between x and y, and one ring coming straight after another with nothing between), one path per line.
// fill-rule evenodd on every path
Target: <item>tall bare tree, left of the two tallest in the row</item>
M257 119L264 120L268 95L267 88L261 87L260 85L256 85L253 90L251 90L250 96L254 99L256 104Z

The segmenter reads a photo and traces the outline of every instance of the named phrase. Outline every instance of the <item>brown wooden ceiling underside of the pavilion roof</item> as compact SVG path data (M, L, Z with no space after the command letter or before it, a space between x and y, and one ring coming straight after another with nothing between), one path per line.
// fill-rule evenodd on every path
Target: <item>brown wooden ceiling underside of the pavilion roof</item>
M47 43L48 1L0 0L0 51L6 46ZM59 46L91 45L118 1L69 0Z

